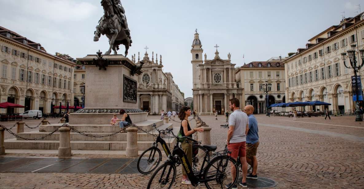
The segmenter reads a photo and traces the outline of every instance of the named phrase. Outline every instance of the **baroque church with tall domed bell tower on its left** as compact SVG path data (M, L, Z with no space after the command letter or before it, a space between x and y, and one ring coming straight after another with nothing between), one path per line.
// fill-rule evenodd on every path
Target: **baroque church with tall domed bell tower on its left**
M230 53L227 59L219 56L218 46L213 59L202 59L202 43L199 34L195 33L192 43L193 69L193 104L199 115L213 115L215 111L223 114L229 109L229 99L238 98L240 107L245 105L243 88L236 83L235 65L231 63Z

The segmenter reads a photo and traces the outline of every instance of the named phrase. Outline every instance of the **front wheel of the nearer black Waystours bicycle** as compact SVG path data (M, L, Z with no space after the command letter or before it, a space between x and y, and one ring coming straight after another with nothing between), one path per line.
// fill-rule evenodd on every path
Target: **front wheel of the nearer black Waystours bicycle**
M165 162L150 177L147 189L172 188L176 174L176 166L172 162Z

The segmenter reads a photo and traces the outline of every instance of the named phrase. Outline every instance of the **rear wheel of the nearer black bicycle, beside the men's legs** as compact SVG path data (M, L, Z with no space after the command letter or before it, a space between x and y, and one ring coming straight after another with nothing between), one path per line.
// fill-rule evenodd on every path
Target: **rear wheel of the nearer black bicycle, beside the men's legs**
M235 168L235 170L232 169ZM235 173L236 177L233 184L230 186L231 189L237 182L239 177L239 167L237 162L229 156L218 156L215 157L206 166L205 170L205 185L208 189L225 189L226 185L232 182L232 174Z

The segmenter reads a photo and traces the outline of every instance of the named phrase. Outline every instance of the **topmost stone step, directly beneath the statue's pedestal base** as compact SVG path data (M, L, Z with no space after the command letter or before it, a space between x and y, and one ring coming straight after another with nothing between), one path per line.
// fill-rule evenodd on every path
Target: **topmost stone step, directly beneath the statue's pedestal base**
M142 128L145 131L152 130L153 124L156 124L157 127L163 125L163 120L146 120L135 123L138 127ZM52 125L41 125L39 127L40 132L53 132L63 124L52 124ZM99 125L99 124L70 124L73 128L80 132L94 132L94 133L114 133L120 130L119 126L117 125ZM72 130L71 130L72 132ZM143 132L138 130L138 132Z

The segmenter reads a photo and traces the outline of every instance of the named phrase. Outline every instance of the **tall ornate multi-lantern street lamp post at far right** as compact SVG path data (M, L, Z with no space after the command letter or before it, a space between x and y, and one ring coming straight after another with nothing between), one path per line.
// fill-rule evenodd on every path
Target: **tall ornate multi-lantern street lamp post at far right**
M355 47L356 47L356 45L353 44L353 45L351 45L352 49L347 51L348 56L349 56L349 61L350 61L349 66L347 66L346 61L345 61L347 54L345 52L343 52L343 53L341 53L341 56L343 57L345 67L352 68L354 70L354 78L355 78L355 83L356 83L356 90L354 91L354 88L353 88L353 94L354 94L354 92L356 94L356 111L355 111L356 112L356 117L355 117L355 121L363 121L363 118L361 117L361 113L360 113L360 110L359 110L360 104L359 104L359 92L358 91L361 90L361 88L359 89L358 88L359 86L357 85L358 76L357 76L356 72L358 72L359 69L361 67L363 67L363 64L364 64L364 49L359 50L360 57L361 57L361 64L360 64L360 61L356 61ZM358 53L358 58L359 58L359 53Z

